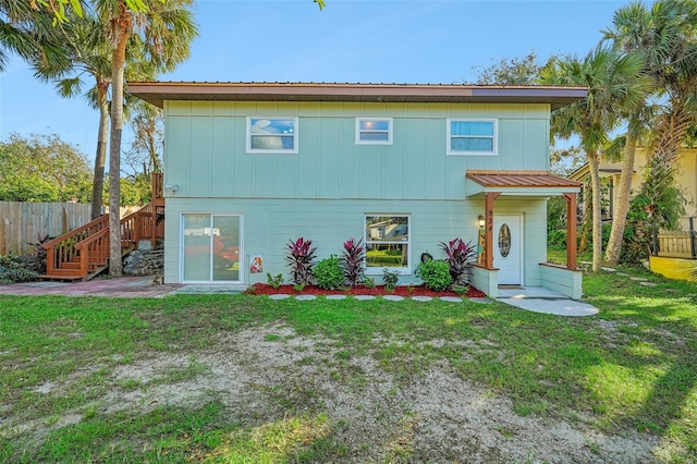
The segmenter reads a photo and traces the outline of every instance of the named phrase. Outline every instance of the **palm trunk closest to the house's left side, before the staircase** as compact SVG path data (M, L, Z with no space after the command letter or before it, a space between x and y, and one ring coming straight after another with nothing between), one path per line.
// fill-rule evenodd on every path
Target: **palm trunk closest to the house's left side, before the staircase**
M121 132L123 130L123 66L127 35L121 34L111 61L111 139L109 141L109 274L123 273L121 262Z

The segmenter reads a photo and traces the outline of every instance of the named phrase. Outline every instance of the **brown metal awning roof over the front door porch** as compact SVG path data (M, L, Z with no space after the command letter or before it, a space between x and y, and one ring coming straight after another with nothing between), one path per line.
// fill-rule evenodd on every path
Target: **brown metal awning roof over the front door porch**
M580 183L558 178L548 171L499 171L468 169L466 178L473 181L467 196L499 192L502 195L548 196L580 192Z

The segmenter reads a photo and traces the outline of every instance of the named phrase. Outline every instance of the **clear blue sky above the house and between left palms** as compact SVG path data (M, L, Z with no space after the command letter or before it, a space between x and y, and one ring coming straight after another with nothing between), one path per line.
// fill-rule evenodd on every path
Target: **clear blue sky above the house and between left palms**
M473 83L504 58L585 56L626 3L326 0L319 11L311 0L198 0L191 58L159 81ZM0 73L0 139L57 134L91 160L97 129L86 100L61 98L16 57Z

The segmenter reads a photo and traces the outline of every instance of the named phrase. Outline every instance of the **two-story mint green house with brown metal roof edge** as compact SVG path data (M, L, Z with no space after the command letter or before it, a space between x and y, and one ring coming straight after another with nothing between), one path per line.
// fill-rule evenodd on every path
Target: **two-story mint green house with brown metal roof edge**
M164 109L164 281L265 282L290 240L319 258L367 245L367 274L416 282L421 253L456 236L484 255L473 284L541 285L580 297L575 249L547 261L550 112L578 87L130 83ZM575 234L575 230L570 230ZM574 235L575 236L575 235ZM568 241L575 243L575 239ZM489 253L491 251L492 253Z

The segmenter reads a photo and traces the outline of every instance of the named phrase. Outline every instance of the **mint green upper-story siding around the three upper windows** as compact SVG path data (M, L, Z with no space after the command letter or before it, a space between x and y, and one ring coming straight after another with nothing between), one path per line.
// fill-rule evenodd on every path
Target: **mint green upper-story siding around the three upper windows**
M461 199L467 169L547 170L549 106L168 101L178 197ZM246 117L298 117L297 154L247 154ZM355 118L393 118L393 145L356 145ZM448 118L499 120L498 156L447 156Z

